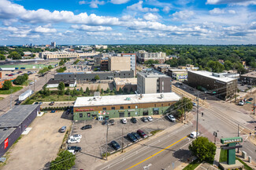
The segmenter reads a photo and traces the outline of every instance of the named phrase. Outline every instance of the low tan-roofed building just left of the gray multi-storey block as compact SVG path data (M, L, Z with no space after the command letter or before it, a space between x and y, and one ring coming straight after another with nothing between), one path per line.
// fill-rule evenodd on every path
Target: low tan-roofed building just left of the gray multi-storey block
M137 78L113 78L113 85L117 92L120 89L135 92L137 90Z

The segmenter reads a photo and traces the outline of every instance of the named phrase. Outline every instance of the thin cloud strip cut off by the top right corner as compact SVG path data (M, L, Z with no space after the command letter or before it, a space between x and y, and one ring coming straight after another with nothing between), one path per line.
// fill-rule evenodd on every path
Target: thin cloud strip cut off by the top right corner
M219 5L219 4L230 4L230 5L256 5L255 0L207 0L206 4Z

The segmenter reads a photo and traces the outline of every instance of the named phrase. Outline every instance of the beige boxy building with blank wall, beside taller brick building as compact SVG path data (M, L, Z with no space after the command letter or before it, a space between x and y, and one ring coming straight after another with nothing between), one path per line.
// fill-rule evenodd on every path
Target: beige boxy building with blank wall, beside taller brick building
M109 57L109 71L130 71L131 59L129 56Z

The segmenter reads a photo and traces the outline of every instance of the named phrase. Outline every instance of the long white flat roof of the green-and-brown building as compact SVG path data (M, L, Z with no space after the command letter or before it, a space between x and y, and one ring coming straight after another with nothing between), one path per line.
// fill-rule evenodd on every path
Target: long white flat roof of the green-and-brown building
M163 98L161 98L163 95ZM74 107L92 107L92 106L109 106L120 104L135 103L161 103L178 101L180 96L175 92L152 93L140 95L117 95L117 96L98 96L98 97L77 97Z

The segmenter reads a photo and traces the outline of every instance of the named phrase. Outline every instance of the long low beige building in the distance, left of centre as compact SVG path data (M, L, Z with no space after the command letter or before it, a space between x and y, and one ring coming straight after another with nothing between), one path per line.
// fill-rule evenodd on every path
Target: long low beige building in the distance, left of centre
M39 52L39 57L44 59L79 59L80 56L97 56L98 54L99 52Z

